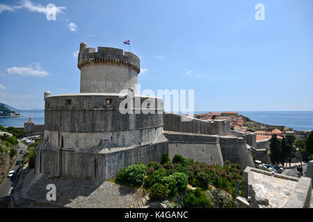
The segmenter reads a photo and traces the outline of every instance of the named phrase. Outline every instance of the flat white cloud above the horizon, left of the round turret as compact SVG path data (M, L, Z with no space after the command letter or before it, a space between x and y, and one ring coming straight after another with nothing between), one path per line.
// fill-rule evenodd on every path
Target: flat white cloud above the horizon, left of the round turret
M35 66L29 65L29 67L10 67L6 69L8 71L8 74L18 74L20 76L48 76L48 72L43 70L42 67L40 67L40 64L38 62L34 63Z

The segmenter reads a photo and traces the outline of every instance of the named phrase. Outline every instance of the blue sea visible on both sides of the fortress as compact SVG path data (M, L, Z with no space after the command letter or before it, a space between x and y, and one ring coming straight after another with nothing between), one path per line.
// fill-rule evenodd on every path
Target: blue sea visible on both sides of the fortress
M197 111L200 114L209 111ZM211 111L221 112L221 111ZM294 130L313 130L313 111L237 111L259 123L287 126ZM45 112L20 112L22 117L0 118L0 124L8 127L24 127L24 122L33 117L36 124L45 124Z

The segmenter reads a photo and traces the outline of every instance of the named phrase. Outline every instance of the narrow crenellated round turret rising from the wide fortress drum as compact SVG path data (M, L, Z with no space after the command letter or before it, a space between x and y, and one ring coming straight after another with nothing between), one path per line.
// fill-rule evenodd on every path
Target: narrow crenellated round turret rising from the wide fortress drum
M81 43L78 67L81 69L81 93L119 93L135 88L140 72L139 58L122 49L109 47L88 48Z

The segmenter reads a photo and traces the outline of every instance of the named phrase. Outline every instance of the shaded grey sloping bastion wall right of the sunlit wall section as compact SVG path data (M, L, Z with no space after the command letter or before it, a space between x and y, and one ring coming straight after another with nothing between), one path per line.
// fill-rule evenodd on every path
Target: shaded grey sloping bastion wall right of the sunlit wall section
M223 160L240 164L243 169L246 167L255 167L252 155L246 147L243 137L220 136L220 150L223 154Z

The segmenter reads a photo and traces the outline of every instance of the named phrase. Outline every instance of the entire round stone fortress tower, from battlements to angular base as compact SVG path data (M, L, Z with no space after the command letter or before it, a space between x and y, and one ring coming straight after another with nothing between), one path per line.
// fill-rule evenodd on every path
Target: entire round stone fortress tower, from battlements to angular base
M168 152L163 101L136 94L139 58L81 43L78 67L79 94L45 93L45 140L35 151L35 173L107 180L129 164L159 161Z

